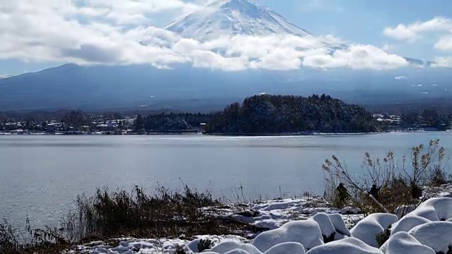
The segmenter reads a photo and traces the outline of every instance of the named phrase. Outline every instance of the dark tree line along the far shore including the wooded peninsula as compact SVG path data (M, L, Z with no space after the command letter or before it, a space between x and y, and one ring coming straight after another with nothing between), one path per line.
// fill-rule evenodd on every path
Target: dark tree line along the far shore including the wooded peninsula
M126 126L124 119L135 119ZM384 123L356 104L345 104L328 95L283 96L255 95L234 103L224 110L210 114L179 113L174 111L87 112L35 111L0 112L0 125L7 121L20 121L45 125L55 120L64 126L81 128L105 121L117 121L119 128L134 131L182 131L203 128L206 133L246 135L271 133L369 133L383 131ZM423 125L445 130L451 127L452 118L442 111L424 109L401 115L400 125ZM30 124L28 124L30 123ZM42 124L41 124L42 123ZM206 123L206 126L201 126Z

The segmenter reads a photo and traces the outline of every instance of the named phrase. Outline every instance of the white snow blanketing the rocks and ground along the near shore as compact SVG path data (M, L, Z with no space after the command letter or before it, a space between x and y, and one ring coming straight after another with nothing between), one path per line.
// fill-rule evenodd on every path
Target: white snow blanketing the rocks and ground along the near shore
M444 191L443 191L444 193ZM252 240L239 236L194 236L181 239L118 239L115 246L90 243L73 246L66 253L198 253L200 239L215 246L207 254L435 254L452 252L452 198L430 198L399 220L394 214L370 214L347 227L351 210L335 210L320 199L286 199L252 205L232 205L213 210L219 219L236 219L264 231ZM316 205L314 205L316 204ZM355 211L356 212L356 211ZM352 217L362 217L355 214ZM350 229L351 228L351 229ZM379 246L376 235L391 229L388 241ZM349 230L350 229L350 230Z

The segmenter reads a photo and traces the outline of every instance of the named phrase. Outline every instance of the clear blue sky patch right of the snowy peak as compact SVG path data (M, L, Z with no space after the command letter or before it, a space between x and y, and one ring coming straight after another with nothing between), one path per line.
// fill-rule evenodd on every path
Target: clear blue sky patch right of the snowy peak
M403 56L433 60L438 54L432 40L406 44L383 35L383 28L452 18L449 0L261 0L301 28L316 35L335 35L354 43L389 45ZM278 4L275 4L278 3ZM433 38L432 38L433 39ZM434 40L434 39L433 39Z

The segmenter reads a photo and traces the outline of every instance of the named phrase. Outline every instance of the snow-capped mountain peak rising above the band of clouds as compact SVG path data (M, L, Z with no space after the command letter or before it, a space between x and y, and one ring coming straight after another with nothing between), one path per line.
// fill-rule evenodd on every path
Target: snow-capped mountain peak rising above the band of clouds
M222 35L311 36L278 13L250 0L215 1L201 11L174 20L165 29L199 41L217 39Z

